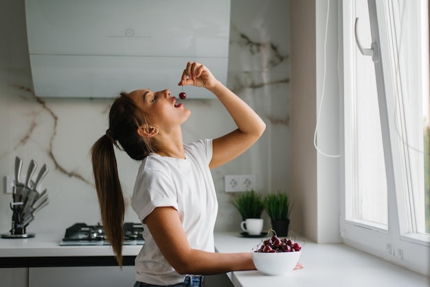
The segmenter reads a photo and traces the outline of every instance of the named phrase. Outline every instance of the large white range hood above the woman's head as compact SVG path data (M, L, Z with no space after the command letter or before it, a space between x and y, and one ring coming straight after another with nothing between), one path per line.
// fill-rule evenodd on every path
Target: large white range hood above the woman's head
M170 89L188 61L227 81L230 0L25 0L34 92L113 97ZM213 97L184 87L187 98Z

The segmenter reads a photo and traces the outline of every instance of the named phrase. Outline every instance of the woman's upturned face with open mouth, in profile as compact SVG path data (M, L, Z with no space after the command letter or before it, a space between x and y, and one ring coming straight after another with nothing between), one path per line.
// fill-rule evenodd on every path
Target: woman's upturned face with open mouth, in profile
M159 130L168 131L180 126L190 117L190 110L182 103L176 104L176 97L170 96L169 90L151 91L140 89L128 94L133 102L146 113L148 122Z

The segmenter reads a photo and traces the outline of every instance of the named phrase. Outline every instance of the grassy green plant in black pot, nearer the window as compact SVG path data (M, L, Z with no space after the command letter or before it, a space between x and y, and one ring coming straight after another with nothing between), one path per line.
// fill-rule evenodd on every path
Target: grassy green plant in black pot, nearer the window
M288 236L291 202L286 193L267 194L263 200L264 210L271 219L272 229L278 236Z

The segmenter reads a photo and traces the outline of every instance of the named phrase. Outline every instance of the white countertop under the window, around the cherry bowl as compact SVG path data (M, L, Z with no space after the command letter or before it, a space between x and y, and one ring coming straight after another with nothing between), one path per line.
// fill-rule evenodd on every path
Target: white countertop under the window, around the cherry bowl
M216 233L216 251L247 252L259 238L243 238L239 233ZM297 238L297 242L301 242ZM414 286L428 287L430 279L405 268L352 249L345 244L306 242L299 259L305 268L282 276L267 276L259 271L235 271L229 278L235 287L260 286Z

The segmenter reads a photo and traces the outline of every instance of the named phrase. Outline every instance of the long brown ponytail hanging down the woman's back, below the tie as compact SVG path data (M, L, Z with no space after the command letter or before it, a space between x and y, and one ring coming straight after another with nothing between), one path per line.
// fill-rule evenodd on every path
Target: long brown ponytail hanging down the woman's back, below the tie
M124 225L125 206L113 144L108 131L94 143L91 148L91 157L102 225L117 262L122 266L122 243L124 241L122 226Z

